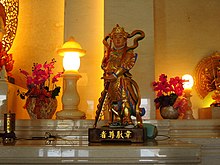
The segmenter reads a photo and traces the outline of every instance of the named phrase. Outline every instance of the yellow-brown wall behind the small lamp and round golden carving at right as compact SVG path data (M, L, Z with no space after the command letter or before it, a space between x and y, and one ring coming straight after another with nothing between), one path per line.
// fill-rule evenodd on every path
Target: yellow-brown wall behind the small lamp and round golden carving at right
M155 0L155 76L194 75L200 60L220 50L219 0ZM208 106L192 91L195 117ZM210 103L210 102L209 102Z

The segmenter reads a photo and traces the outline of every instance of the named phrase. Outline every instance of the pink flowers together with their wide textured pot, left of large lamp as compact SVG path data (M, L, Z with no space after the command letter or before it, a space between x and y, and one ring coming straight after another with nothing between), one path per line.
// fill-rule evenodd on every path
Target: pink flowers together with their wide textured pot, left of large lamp
M21 99L26 99L24 108L27 109L32 119L51 119L57 108L56 96L59 95L60 87L56 82L63 72L53 76L55 59L44 64L34 63L32 74L20 69L26 77L27 92L17 91Z

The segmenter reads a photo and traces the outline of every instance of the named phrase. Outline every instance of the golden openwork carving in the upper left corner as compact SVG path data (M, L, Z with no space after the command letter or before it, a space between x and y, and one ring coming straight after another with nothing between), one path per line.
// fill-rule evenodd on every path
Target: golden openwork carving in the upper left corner
M0 3L3 4L6 12L6 34L2 39L2 45L7 52L13 44L17 31L19 0L0 0Z

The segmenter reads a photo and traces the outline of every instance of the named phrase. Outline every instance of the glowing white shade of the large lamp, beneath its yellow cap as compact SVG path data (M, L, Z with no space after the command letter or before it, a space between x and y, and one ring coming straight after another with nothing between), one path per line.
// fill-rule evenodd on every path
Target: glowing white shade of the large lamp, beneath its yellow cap
M63 67L65 71L77 72L80 67L80 57L78 52L65 52L63 57Z

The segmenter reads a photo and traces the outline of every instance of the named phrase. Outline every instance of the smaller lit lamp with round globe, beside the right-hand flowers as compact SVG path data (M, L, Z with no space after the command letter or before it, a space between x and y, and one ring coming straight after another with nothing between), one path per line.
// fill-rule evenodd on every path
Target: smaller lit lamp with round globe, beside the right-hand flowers
M194 80L193 80L193 77L189 74L183 75L182 79L185 80L185 82L183 83L184 96L186 97L187 102L188 102L188 109L186 110L183 116L183 119L194 119L193 112L192 112L192 103L190 100L190 98L192 97L191 91L192 91L192 87L194 84Z

